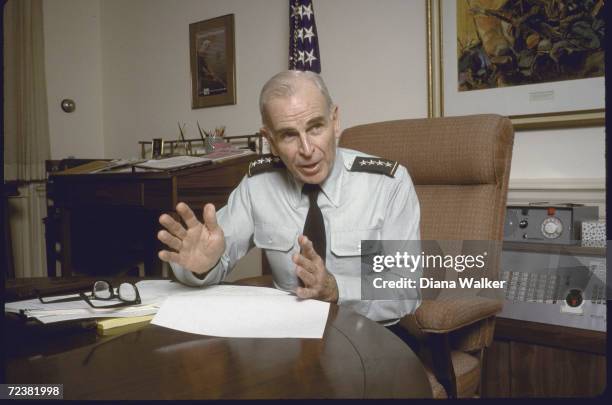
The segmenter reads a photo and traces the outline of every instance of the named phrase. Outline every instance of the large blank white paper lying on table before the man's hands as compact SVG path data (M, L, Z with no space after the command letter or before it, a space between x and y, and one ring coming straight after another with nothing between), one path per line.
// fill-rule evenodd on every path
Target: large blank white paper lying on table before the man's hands
M225 293L218 289L204 289L199 293L170 296L151 323L183 332L221 337L323 337L329 303L302 300L282 291L256 291L272 289L231 287Z

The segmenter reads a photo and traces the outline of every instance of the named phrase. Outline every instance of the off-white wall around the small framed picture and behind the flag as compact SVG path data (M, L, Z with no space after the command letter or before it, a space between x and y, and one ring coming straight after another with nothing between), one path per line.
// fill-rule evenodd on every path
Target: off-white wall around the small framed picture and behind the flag
M102 0L104 129L109 157L136 142L178 137L177 121L197 137L196 120L230 135L259 129L261 85L287 66L286 0ZM350 10L350 15L347 15ZM315 2L323 76L344 126L426 114L424 3ZM189 23L234 13L237 104L191 109ZM357 24L358 23L358 24ZM417 57L415 57L417 55ZM421 57L418 57L421 56ZM362 83L365 83L363 85Z

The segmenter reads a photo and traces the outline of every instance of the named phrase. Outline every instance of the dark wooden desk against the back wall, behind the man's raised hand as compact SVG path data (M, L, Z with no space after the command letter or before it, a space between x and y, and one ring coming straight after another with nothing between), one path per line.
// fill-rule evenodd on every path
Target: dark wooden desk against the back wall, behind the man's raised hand
M171 172L51 175L49 276L56 276L56 259L62 276L106 275L139 263L147 275L160 275L159 215L180 201L198 216L207 202L221 208L255 157Z

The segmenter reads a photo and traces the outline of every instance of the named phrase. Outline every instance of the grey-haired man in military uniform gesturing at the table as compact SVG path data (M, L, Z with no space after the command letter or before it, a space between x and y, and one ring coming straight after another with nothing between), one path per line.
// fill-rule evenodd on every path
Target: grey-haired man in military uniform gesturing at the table
M361 299L362 240L418 240L419 203L397 162L337 147L338 107L321 77L286 71L260 95L261 132L272 155L256 159L227 206L203 209L203 223L184 203L169 215L159 252L176 278L210 285L254 246L270 263L277 288L346 305L392 324L420 303L416 290L394 300ZM382 140L381 140L382 141Z

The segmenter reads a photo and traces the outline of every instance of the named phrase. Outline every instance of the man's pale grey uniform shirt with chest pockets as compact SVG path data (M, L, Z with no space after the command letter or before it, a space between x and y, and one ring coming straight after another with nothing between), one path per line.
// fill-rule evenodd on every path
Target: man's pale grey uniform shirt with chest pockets
M398 166L393 177L351 171L358 156L370 157L337 148L332 172L321 184L317 202L325 221L325 264L336 279L339 305L374 321L394 321L414 312L420 305L419 293L404 289L398 291L398 299L362 300L360 244L362 240L419 240L419 202L406 168ZM265 163L262 159L259 163ZM373 157L371 164L377 163ZM176 278L192 286L219 283L256 246L267 256L274 285L294 291L298 279L291 256L300 250L297 239L309 208L302 185L285 168L245 176L217 213L226 243L219 264L198 279L170 263Z

